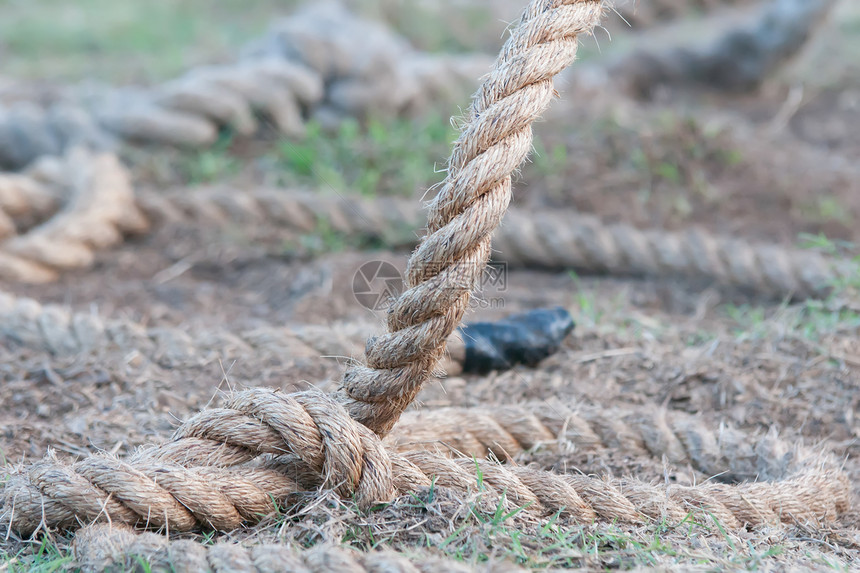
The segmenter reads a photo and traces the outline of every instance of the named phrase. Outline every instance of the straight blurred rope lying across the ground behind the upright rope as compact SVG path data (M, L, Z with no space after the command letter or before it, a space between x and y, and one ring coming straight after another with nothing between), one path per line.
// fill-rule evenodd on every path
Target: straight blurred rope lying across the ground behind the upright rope
M144 193L139 203L161 224L207 226L247 223L255 228L307 233L320 225L348 236L379 236L412 245L423 214L395 198L325 197L278 190L200 189ZM493 235L493 258L512 266L591 272L707 278L762 294L823 296L834 281L860 271L813 251L750 243L701 229L673 233L606 224L575 211L510 209Z

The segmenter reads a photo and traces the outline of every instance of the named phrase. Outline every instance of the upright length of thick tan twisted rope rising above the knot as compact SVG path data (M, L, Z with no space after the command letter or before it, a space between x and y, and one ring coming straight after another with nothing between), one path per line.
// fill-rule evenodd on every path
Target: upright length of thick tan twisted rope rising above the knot
M407 290L388 311L388 334L368 340L366 366L350 368L336 393L374 432L391 429L444 353L489 259L511 173L531 150L531 124L603 9L599 1L531 2L475 95L430 205L428 234L407 265Z

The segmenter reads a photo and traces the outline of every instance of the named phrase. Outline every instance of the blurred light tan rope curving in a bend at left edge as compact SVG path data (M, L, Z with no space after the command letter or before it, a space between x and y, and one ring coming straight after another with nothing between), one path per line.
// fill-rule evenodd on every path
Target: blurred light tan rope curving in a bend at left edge
M62 176L70 179L68 203L48 221L0 243L0 278L54 280L59 271L90 266L94 252L120 242L122 233L148 228L114 155L73 150Z

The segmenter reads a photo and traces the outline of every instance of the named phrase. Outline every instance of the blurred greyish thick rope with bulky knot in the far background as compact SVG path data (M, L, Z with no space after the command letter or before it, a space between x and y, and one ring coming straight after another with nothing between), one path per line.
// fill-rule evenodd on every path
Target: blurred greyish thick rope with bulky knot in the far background
M154 87L80 85L22 98L51 100L45 107L0 102L0 167L21 169L74 145L209 147L225 129L254 135L261 117L280 134L300 137L309 118L331 126L368 114L418 114L471 89L489 64L482 55L418 52L334 3L309 4L275 22L243 52L237 62L198 67Z

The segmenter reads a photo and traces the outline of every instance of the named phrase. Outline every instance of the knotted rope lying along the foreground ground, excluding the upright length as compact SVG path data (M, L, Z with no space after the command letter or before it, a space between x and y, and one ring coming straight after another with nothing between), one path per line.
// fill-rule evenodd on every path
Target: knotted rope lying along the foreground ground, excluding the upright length
M232 530L294 493L329 488L368 507L431 483L582 522L680 521L690 511L706 511L739 529L828 522L847 511L851 487L844 473L809 460L793 469L796 474L775 482L681 487L427 451L398 454L324 394L254 389L233 395L224 408L200 412L172 441L126 460L100 454L68 465L49 455L9 477L3 518L24 535L92 521Z

